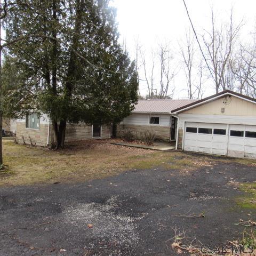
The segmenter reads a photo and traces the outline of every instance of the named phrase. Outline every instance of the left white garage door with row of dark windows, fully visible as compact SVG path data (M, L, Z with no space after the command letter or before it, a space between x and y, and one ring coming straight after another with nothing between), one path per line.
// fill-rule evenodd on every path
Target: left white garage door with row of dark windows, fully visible
M228 125L185 123L184 150L227 155Z

